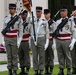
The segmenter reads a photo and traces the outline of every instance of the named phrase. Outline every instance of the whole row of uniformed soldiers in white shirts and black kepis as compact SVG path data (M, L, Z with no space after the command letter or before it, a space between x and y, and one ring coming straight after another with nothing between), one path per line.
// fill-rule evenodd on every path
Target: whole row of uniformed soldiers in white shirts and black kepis
M64 75L65 68L66 75L76 75L76 6L73 6L69 17L67 5L61 5L54 18L51 18L51 12L36 6L36 16L26 9L16 14L16 4L9 4L9 15L4 18L1 32L2 44L7 52L7 75L17 75L18 63L21 68L18 75L29 75L30 50L34 75L53 75L54 50L59 62L56 75ZM60 19L55 21L58 14Z

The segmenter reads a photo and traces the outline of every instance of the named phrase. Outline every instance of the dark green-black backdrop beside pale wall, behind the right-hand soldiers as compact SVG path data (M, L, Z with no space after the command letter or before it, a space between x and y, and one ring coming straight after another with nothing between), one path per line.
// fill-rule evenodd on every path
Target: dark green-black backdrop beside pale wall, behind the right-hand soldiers
M48 8L51 10L52 17L60 9L61 5L67 5L69 14L71 14L74 0L48 0ZM57 16L57 19L60 16Z

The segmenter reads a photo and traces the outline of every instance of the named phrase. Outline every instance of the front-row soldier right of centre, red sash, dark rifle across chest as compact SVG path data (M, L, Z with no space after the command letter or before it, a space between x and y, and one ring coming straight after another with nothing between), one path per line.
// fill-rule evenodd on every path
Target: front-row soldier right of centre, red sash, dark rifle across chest
M60 15L61 18L56 21L56 27L63 22L67 17L68 9L66 5L61 6L60 8ZM64 68L66 64L67 68L67 75L71 75L71 52L73 48L73 44L75 43L74 37L71 39L71 34L73 33L72 25L70 21L68 21L65 26L59 30L59 35L56 38L56 46L57 46L57 54L58 54L58 61L59 61L59 68L60 71L58 75L64 75ZM71 43L71 44L70 44ZM69 48L70 47L70 48Z

